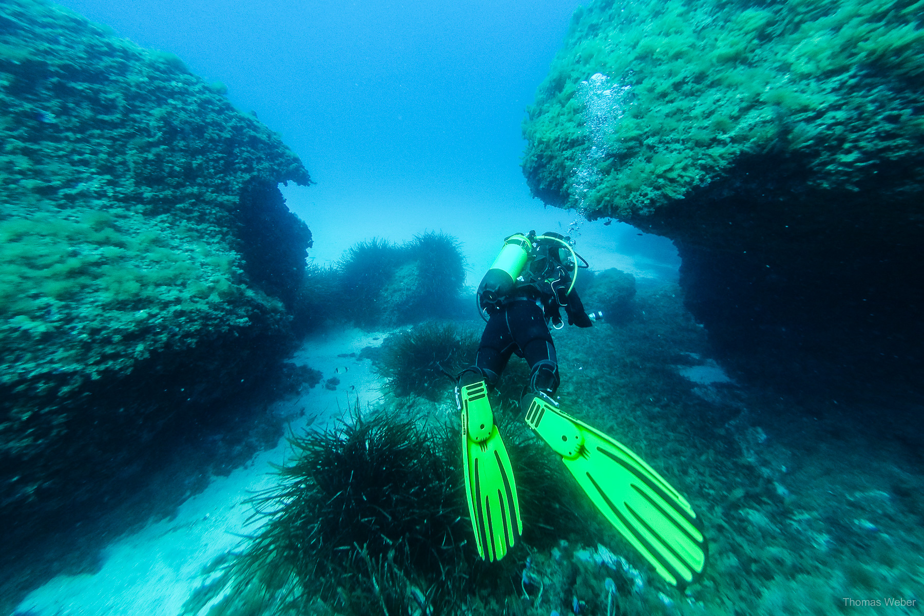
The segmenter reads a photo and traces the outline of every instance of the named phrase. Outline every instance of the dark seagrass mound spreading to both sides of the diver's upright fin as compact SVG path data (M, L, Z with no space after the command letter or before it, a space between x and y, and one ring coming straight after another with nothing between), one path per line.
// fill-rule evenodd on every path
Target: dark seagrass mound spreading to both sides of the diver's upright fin
M527 528L504 561L483 562L461 483L460 426L444 408L421 410L362 411L356 401L344 424L292 437L278 485L252 500L261 525L201 571L182 613L487 616L520 606L511 588L524 562L579 525L576 495L560 485L565 469L522 422L495 417L520 466Z

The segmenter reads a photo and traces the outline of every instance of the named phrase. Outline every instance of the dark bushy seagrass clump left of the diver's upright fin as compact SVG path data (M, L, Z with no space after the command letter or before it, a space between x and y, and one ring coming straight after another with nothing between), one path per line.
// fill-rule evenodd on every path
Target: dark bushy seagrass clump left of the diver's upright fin
M441 613L465 583L468 538L447 439L359 404L348 422L291 436L277 487L252 499L261 529L226 566L216 613Z

